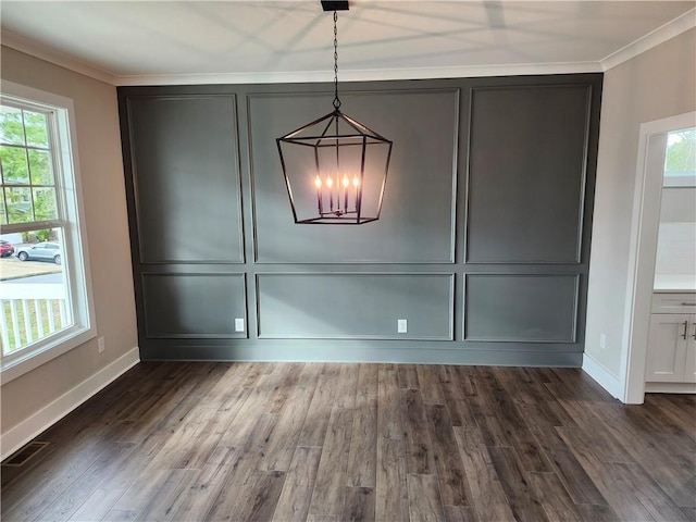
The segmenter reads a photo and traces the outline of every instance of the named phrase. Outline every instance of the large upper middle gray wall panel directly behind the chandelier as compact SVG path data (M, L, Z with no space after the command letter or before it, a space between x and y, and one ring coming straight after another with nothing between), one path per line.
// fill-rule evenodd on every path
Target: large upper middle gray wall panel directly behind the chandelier
M314 247L321 243L318 241L318 237L322 236L316 226L291 224L287 190L281 183L283 172L277 158L275 138L327 112L331 108L331 96L333 95L330 92L310 91L247 95L254 262L287 265L345 262L412 265L455 263L460 89L414 88L341 92L341 108L345 108L348 114L390 139L395 139L395 142L400 141L400 145L391 152L385 203L380 221L358 227L335 227L336 243L321 251L315 250ZM407 99L407 97L410 98ZM398 103L399 98L405 98L406 101ZM408 103L409 100L410 103ZM366 108L361 107L361 103L368 104ZM403 108L390 110L389 107L384 107L389 103L395 107L410 107L411 110L407 111ZM430 111L428 103L433 105ZM288 112L295 105L301 109L295 109L297 115L286 116L285 122L279 120L278 114ZM408 119L418 110L423 111L423 114L414 122L423 125L422 135L409 127ZM268 111L268 114L263 111ZM254 113L259 115L254 116ZM372 125L371 117L377 120L381 117L388 124ZM425 122L424 117L430 117L432 121ZM450 119L449 122L446 117ZM277 128L266 128L269 121L273 121ZM254 124L254 122L259 123ZM439 122L439 125L435 122ZM257 130L258 127L262 132ZM401 138L398 133L402 134ZM254 134L261 135L256 139ZM432 139L436 134L439 145L433 147ZM423 148L409 144L409 140L418 139L430 139L431 146ZM443 151L447 149L448 152L439 153L439 149ZM433 156L432 161L422 158L427 154ZM447 161L446 167L444 164L439 166L437 175L426 172L425 166L423 171L417 170L420 163L433 166L444 163L446 159L451 161ZM442 178L445 171L448 179ZM405 176L410 178L406 179ZM399 179L401 182L406 179L407 183L399 183ZM437 207L427 206L430 192L437 196L439 201ZM260 198L259 194L263 194L263 198ZM266 201L270 197L274 200L272 204ZM449 212L447 213L443 210L443 198L448 198L446 204L449 206ZM420 212L418 202L421 203ZM420 232L427 226L431 231L438 232L436 234ZM447 235L440 231L447 232ZM288 233L291 233L294 244L284 245L283 252L278 253L277 245L287 240ZM419 235L417 239L424 245L423 248L405 248L409 245L409 238L414 239L413 234Z

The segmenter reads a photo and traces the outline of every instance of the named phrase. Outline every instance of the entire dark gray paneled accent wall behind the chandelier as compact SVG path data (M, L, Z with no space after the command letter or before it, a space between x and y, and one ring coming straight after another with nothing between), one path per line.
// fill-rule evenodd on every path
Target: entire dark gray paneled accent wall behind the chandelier
M332 87L119 89L141 358L580 365L601 75L341 85L381 219L295 224L275 138Z

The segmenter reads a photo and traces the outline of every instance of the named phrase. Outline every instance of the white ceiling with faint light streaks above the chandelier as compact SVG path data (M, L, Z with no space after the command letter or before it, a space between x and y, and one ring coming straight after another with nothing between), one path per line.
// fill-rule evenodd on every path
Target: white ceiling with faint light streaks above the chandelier
M338 14L339 79L601 71L660 32L696 25L695 7L350 0ZM319 0L2 0L0 10L3 45L115 85L333 78L332 14Z

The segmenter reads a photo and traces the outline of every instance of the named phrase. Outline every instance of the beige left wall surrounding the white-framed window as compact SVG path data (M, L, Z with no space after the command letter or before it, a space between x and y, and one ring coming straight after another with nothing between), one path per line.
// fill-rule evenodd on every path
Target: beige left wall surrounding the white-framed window
M104 376L133 355L137 331L116 89L13 49L1 50L2 79L74 101L97 331L107 345L99 355L92 339L0 388L3 444L9 444L5 435L13 428L32 419L37 426L37 414L58 411L61 397L70 399L62 406L79 401L89 389L85 382L95 384L96 375Z

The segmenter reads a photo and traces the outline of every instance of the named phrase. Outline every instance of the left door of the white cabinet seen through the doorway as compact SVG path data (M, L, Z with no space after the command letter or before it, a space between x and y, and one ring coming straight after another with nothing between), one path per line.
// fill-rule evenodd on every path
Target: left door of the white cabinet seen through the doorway
M650 316L648 359L645 369L647 382L684 381L689 319L691 315L680 313L657 313Z

